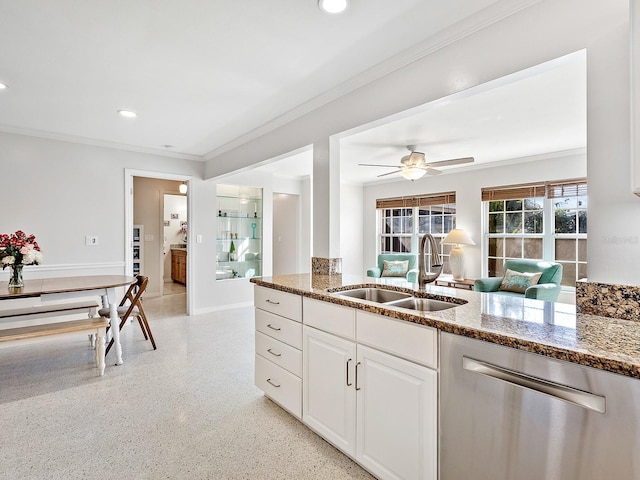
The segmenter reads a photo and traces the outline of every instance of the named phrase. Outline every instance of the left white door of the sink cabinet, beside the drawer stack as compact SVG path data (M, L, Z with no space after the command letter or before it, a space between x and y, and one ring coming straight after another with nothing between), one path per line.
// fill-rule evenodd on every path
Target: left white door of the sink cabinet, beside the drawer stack
M354 342L304 326L302 421L347 455L355 455Z

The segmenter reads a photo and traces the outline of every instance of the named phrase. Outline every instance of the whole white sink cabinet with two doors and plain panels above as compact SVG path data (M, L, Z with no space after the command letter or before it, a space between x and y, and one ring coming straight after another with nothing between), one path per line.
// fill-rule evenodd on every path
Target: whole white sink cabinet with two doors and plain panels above
M380 479L435 480L437 331L309 298L303 307L303 422Z

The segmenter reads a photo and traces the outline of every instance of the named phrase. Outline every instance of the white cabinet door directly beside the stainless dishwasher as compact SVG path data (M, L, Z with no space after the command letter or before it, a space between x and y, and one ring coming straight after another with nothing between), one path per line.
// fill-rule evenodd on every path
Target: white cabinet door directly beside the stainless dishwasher
M437 374L358 345L356 459L380 479L437 478Z

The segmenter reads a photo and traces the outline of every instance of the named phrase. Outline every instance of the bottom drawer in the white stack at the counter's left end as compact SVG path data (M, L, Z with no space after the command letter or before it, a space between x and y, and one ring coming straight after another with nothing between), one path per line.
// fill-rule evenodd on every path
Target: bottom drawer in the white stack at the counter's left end
M302 417L302 380L256 355L256 386L297 418Z

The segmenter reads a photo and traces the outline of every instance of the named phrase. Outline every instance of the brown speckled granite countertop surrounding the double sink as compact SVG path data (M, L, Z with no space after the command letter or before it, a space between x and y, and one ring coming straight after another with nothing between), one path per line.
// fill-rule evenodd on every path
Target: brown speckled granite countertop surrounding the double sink
M255 277L252 283L435 327L588 367L640 378L640 322L578 314L575 305L491 293L427 286L425 295L454 297L464 305L438 312L416 312L332 293L346 286L384 285L415 289L403 279L354 275Z

